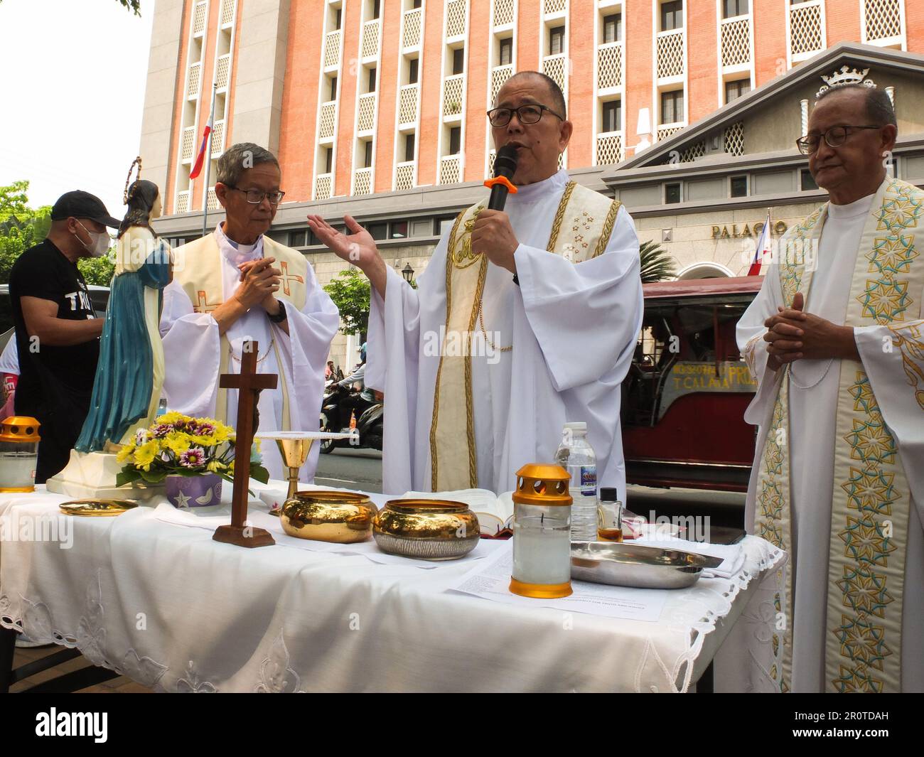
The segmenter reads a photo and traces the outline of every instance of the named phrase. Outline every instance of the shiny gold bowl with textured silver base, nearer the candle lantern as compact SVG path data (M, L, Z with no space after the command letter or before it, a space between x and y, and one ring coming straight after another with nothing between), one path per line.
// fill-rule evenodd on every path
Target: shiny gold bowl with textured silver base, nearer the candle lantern
M480 539L478 518L462 502L392 499L375 516L372 535L389 555L422 560L456 560Z

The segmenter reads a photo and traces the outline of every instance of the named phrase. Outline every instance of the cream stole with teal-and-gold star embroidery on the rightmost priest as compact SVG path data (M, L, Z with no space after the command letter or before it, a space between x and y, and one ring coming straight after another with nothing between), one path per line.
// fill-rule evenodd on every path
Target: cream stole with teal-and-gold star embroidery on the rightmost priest
M817 245L826 208L819 208L787 235L796 241L788 253L781 251L780 276L787 307L796 291L802 291L806 311L810 311L811 271L807 263L811 258L800 255L800 247L805 245L808 251ZM886 179L873 198L859 242L846 325L892 326L920 317L921 303L914 302L908 293L924 289L924 263L915 261L918 252L914 249L915 233L922 223L924 192L904 181ZM788 367L784 371L771 427L757 458L755 526L759 536L792 553L791 376ZM841 360L834 440L826 689L898 691L910 492L894 438L882 420L869 377L857 360ZM770 673L781 690L788 690L794 620L792 571L784 577L778 575L778 579L776 611L784 618L785 628L782 634L773 634L777 662Z

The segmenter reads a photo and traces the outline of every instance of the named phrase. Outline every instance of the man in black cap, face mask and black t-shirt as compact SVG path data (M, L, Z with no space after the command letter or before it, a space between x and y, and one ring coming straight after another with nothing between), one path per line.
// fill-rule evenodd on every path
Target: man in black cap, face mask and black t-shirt
M9 276L19 353L17 415L42 426L35 482L67 465L90 409L103 318L95 318L79 258L109 250L106 226L117 228L103 201L89 192L61 195L48 237L20 256Z

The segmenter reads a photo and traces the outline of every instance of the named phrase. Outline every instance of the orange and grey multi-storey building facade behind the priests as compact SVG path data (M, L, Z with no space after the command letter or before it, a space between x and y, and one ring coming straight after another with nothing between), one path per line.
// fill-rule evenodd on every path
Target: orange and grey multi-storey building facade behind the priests
M922 53L906 0L158 0L140 152L161 230L198 237L203 209L220 218L205 172L188 178L214 99L212 160L235 141L278 155L271 233L322 283L346 265L309 212L356 216L419 273L485 191L494 96L538 69L565 92L569 173L623 201L681 276L738 275L768 208L780 233L823 200L795 147L822 77L890 88L893 170L924 178ZM352 348L339 337L338 362Z

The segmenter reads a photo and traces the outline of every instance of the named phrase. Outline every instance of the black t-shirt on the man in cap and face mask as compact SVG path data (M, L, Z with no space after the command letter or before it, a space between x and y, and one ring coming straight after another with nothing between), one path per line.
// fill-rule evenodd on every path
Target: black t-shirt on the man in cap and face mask
M90 290L77 263L67 260L51 241L45 239L19 256L9 275L19 353L16 411L36 415L62 402L89 403L100 356L99 337L67 347L33 345L22 317L22 297L50 299L58 306L57 317L68 321L95 317Z

